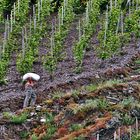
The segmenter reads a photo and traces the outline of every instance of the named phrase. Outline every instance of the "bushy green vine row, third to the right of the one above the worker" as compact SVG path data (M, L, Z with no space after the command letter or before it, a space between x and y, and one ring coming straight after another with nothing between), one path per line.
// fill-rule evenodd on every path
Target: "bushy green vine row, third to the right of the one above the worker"
M106 25L103 25L103 29L98 34L98 40L100 42L100 47L97 49L97 54L101 59L107 59L114 55L118 48L121 46L121 39L116 34L118 18L120 16L121 9L119 6L113 7L112 11L109 13L108 17L108 28L106 30ZM104 21L103 23L105 23ZM106 32L106 39L105 39Z

